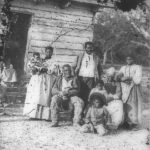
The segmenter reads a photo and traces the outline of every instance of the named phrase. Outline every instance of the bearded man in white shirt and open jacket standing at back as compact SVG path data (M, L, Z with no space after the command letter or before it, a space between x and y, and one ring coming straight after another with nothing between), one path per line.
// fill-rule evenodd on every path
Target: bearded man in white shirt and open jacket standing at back
M86 104L90 90L95 87L95 83L100 80L102 74L100 58L94 53L92 42L85 43L85 52L77 59L75 73L79 76L81 97Z

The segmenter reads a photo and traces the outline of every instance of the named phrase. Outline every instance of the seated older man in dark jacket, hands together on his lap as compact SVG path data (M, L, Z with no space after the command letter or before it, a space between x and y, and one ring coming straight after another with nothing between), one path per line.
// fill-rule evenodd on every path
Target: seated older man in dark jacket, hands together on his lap
M63 103L74 108L74 125L79 125L84 102L78 97L80 92L79 81L71 75L71 66L66 64L62 68L63 75L56 79L52 88L51 119L52 127L58 126L59 111Z

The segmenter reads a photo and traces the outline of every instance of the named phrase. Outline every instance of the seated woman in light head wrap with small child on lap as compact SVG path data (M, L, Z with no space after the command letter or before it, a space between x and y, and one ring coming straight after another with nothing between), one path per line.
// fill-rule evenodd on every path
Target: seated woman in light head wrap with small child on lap
M113 73L111 71L113 71ZM105 75L107 80L104 81L104 87L102 88L102 83L98 83L97 86L92 89L89 100L94 93L103 94L106 99L106 109L109 113L107 126L109 129L117 129L124 121L121 87L120 83L114 82L115 72L112 68L107 70Z

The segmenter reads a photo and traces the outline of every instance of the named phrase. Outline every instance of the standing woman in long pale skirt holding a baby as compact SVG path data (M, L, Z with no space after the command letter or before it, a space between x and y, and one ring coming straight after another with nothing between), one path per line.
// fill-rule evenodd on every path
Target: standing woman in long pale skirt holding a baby
M32 119L50 120L51 89L58 75L53 48L47 47L46 57L41 60L39 54L29 62L32 77L27 87L27 94L23 114Z

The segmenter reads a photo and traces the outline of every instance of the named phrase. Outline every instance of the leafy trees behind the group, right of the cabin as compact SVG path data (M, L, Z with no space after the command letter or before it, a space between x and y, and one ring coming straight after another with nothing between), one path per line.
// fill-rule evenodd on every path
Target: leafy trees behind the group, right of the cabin
M99 10L95 17L94 42L103 53L103 63L123 63L133 55L138 63L149 64L149 15L139 7L129 12Z

